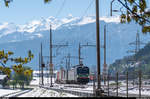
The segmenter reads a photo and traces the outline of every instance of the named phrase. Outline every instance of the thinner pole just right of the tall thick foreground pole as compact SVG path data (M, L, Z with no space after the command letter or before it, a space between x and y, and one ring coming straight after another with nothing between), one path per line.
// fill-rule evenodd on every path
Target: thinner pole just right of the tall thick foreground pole
M104 85L106 85L106 79L107 79L107 64L106 64L106 25L104 26L104 67L103 67L103 80Z

